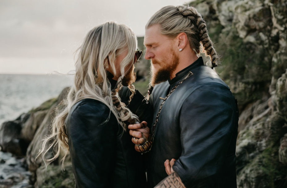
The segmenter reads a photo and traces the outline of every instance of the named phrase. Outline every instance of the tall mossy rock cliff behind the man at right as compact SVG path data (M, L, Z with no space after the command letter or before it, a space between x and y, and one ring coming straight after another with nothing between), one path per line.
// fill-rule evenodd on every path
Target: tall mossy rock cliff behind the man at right
M237 185L287 187L287 2L197 0L238 100ZM206 59L208 60L208 59Z

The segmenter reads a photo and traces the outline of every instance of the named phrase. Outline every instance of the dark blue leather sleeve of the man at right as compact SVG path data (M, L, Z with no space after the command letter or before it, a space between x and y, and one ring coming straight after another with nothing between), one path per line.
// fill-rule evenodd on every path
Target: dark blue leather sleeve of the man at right
M180 112L182 154L173 170L186 187L213 187L236 134L238 109L234 96L220 84L197 88ZM236 140L235 137L235 140ZM232 143L233 145L233 143Z

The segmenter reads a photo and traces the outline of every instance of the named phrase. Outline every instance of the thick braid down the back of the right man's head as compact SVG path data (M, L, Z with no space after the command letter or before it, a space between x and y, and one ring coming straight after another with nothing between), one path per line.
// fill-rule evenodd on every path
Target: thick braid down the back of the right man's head
M190 19L191 23L195 25L197 30L195 30L198 33L199 36L199 42L202 45L202 52L209 56L211 63L212 63L212 69L217 66L219 63L219 57L217 52L215 51L213 47L213 43L208 35L206 23L203 20L202 16L198 13L198 11L190 6L177 6L179 12L183 15L183 17L186 17ZM196 49L197 52L199 52L199 49Z

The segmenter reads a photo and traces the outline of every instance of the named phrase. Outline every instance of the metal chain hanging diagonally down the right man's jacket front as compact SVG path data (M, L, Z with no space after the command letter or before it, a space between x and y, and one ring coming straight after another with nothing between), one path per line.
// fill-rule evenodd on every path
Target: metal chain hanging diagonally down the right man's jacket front
M160 97L160 99L162 99L163 101L162 101L162 103L161 103L161 105L160 105L160 109L159 109L159 111L158 111L158 113L157 113L157 115L156 115L155 122L154 122L154 124L153 124L153 126L152 126L152 135L150 135L150 136L148 137L148 140L147 140L145 143L143 143L143 144L136 144L137 146L139 146L139 149L140 149L140 151L142 151L142 154L143 154L143 153L146 153L146 152L148 152L148 151L150 151L151 148L152 148L152 143L153 143L153 139L154 139L155 131L156 131L156 125L157 125L157 123L158 123L158 118L159 118L159 116L160 116L160 114L161 114L161 109L162 109L163 104L165 104L166 99L174 92L174 90L175 90L184 80L186 80L186 79L187 79L188 77L190 77L191 75L193 75L193 73L192 73L191 71L189 71L189 72L186 74L186 76L185 76L178 84L176 84L176 85L170 90L169 94L168 94L165 98L161 98L161 97Z

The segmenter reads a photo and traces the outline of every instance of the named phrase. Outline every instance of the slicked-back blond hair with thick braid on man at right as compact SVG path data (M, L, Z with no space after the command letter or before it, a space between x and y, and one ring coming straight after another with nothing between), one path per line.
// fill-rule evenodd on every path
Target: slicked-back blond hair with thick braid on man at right
M200 51L208 56L212 63L212 69L219 64L219 57L214 48L206 23L198 11L190 6L165 6L157 11L146 24L146 28L160 24L161 33L169 37L176 37L185 32L191 49L199 54Z

